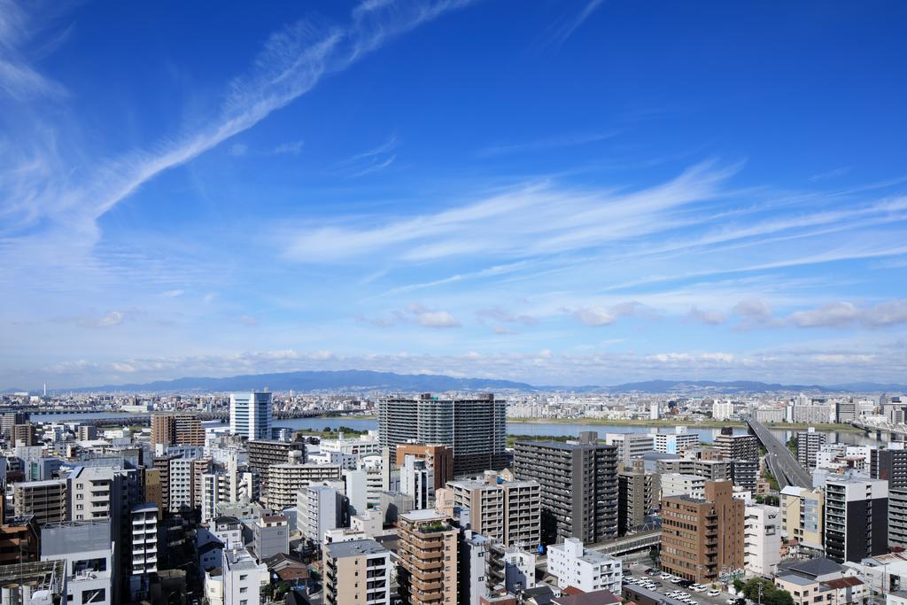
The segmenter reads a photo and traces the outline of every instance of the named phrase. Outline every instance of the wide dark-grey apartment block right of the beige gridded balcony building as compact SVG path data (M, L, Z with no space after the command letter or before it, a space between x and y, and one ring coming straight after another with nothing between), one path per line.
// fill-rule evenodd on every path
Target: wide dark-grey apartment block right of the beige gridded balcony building
M518 442L513 474L541 485L541 542L604 542L618 536L617 447L598 434L574 443Z

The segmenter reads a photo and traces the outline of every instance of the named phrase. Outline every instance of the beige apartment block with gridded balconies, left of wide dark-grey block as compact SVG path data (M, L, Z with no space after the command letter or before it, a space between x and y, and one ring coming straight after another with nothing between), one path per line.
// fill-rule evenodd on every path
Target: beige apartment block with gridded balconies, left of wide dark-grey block
M539 482L451 481L453 503L469 509L473 532L504 546L534 549L541 543Z

